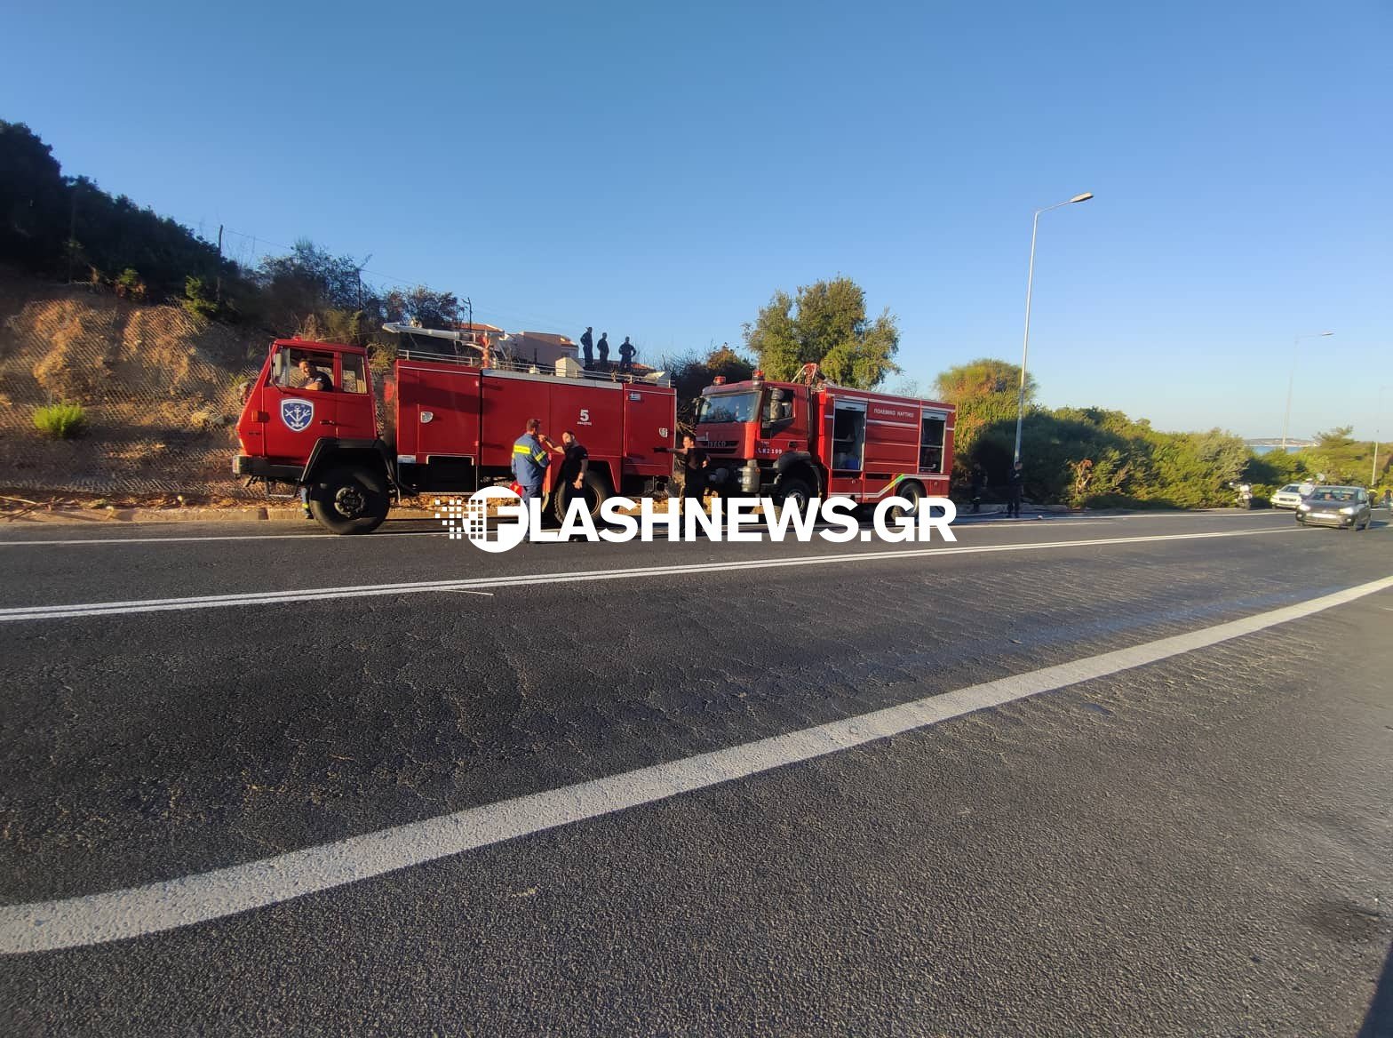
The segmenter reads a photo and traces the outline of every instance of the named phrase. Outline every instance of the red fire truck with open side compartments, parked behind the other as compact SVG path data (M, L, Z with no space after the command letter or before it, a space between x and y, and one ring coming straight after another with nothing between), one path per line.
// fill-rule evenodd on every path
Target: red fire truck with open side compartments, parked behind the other
M953 404L848 389L809 364L793 382L708 386L696 442L722 495L769 495L802 507L833 495L873 503L949 493Z

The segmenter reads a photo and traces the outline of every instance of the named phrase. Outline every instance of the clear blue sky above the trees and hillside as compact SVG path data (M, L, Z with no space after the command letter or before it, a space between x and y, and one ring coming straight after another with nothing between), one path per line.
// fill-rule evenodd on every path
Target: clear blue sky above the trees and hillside
M1158 428L1393 435L1393 7L10 7L0 118L216 235L653 357L844 273L905 375L1018 361ZM274 248L272 248L274 251ZM386 277L378 277L386 281Z

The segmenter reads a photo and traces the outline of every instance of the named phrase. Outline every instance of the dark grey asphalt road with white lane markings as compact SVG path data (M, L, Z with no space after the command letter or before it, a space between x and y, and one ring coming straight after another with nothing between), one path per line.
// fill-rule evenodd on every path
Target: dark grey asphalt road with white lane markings
M1387 513L957 534L0 529L0 1034L1393 1034Z

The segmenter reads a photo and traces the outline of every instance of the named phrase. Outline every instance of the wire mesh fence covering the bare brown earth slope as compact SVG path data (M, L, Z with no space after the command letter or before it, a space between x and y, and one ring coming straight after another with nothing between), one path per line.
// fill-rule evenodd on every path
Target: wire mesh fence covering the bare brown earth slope
M266 340L178 307L132 305L54 287L0 320L0 492L252 497L230 474L241 412ZM81 404L60 439L40 408Z

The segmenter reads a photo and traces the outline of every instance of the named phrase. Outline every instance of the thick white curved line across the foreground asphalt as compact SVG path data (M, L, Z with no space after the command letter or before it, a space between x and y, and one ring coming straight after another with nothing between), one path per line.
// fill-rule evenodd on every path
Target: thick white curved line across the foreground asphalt
M159 934L332 890L545 829L745 779L988 706L1107 677L1393 588L1393 577L1197 631L929 695L846 720L160 883L0 907L0 954Z

